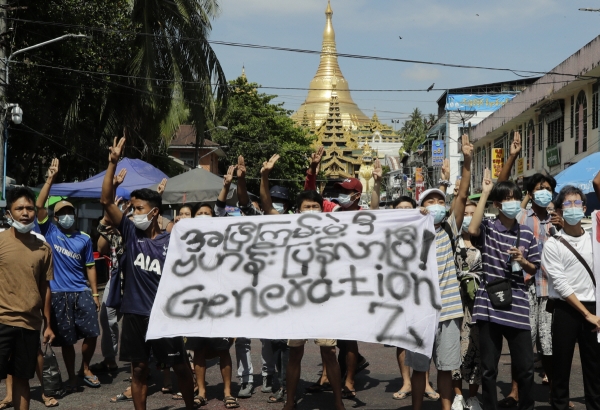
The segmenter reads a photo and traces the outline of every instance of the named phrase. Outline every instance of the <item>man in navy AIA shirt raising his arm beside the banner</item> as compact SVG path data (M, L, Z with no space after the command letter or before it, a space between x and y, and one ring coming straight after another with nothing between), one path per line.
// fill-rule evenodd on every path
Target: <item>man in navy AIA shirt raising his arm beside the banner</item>
M148 360L150 350L158 362L173 367L187 409L194 408L194 380L182 337L146 341L150 311L167 256L170 234L161 232L158 216L162 198L150 189L131 193L133 220L123 217L113 200L113 177L123 151L125 138L110 148L109 163L102 183L100 202L104 211L123 236L127 252L121 261L125 289L121 303L122 361L131 362L131 394L136 410L146 409Z

